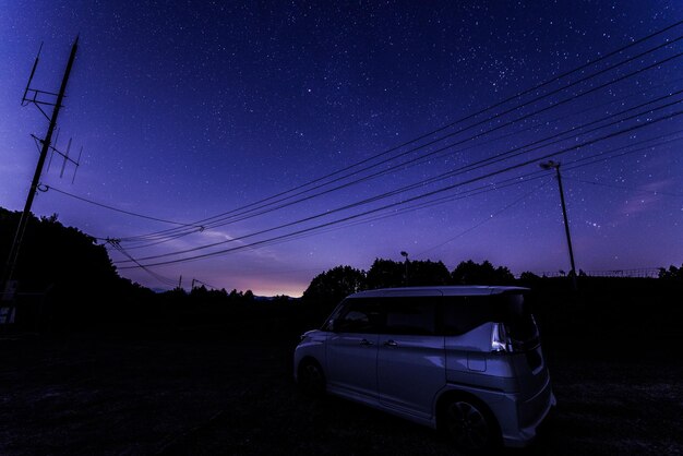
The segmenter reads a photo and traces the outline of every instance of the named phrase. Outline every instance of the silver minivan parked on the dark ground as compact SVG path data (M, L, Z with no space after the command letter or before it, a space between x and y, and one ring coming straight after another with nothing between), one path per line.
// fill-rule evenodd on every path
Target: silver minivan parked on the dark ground
M295 377L448 434L466 452L525 446L555 405L528 289L416 287L347 297L301 336Z

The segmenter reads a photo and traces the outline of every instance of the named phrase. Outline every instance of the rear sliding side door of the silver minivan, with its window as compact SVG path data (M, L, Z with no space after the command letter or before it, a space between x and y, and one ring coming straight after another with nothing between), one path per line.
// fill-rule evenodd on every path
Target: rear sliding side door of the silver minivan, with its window
M446 382L444 336L436 331L436 297L392 298L378 349L380 401L421 418L432 416Z

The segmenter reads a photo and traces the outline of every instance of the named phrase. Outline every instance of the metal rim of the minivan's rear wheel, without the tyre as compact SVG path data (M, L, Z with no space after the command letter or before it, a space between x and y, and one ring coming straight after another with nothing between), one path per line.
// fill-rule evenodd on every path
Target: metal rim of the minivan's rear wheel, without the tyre
M446 410L447 429L456 444L465 449L482 449L491 442L491 432L483 413L465 401L455 401Z

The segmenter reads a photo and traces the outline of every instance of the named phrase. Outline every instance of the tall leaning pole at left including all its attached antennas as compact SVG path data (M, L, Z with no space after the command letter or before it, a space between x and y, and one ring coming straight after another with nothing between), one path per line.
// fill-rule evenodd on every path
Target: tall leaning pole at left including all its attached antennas
M40 45L40 49L43 49L43 45ZM76 50L79 49L79 37L73 41L71 46L71 55L69 56L69 61L67 62L67 69L64 70L64 75L62 77L61 86L59 87L59 92L57 94L51 92L38 91L35 88L31 88L31 82L33 81L33 76L36 72L36 68L38 65L38 59L40 57L40 50L38 50L38 56L36 56L36 60L33 64L33 69L31 70L31 76L28 76L28 83L26 84L26 89L24 91L24 95L22 97L22 106L28 106L29 104L35 105L38 110L48 119L49 125L47 129L47 133L45 139L40 140L36 136L34 141L36 141L36 145L40 148L40 156L38 157L38 164L36 165L36 170L33 176L33 181L31 182L31 189L28 190L28 196L26 197L26 204L24 205L24 211L19 219L19 226L16 227L16 233L14 235L14 241L12 242L12 248L10 249L10 255L8 257L8 262L3 272L3 293L2 300L9 301L14 298L14 290L16 289L16 283L13 280L14 271L16 268L16 261L19 259L19 251L21 249L22 239L24 238L24 232L26 231L26 225L28 224L28 219L31 217L31 206L33 205L33 200L36 195L36 191L38 191L40 184L40 175L43 173L43 167L45 165L45 159L47 158L48 152L52 151L64 157L64 165L67 161L71 161L76 165L77 163L69 158L69 151L67 154L62 154L56 147L51 146L52 133L55 132L55 127L57 125L57 118L59 116L60 108L62 107L62 100L64 98L64 92L67 91L67 83L69 82L69 74L71 73L71 68L73 67L73 61L76 57ZM45 98L57 97L55 101L46 100ZM48 117L48 115L43 109L44 106L52 106L52 116ZM57 135L59 137L59 133ZM71 142L69 143L71 145ZM77 169L77 168L76 168ZM75 178L75 171L74 171Z

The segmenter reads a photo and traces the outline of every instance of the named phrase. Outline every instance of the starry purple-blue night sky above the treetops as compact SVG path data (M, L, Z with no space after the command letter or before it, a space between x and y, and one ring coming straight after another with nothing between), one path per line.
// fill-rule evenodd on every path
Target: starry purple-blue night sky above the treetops
M680 265L683 24L639 41L680 21L657 0L2 0L0 206L23 208L47 130L20 106L40 43L32 87L57 92L80 34L57 147L81 166L72 184L55 156L33 212L119 240L145 286L300 296L402 251L568 271L548 159L577 268Z

